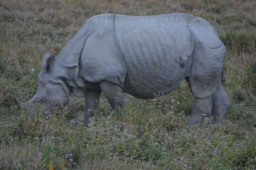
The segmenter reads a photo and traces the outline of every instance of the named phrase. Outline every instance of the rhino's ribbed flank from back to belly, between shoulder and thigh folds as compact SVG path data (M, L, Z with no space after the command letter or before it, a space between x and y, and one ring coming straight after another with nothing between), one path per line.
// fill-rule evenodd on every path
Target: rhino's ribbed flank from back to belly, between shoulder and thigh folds
M170 15L117 15L114 26L127 67L125 91L152 98L181 84L190 67L180 67L181 55L192 53L192 34L185 24L173 22Z

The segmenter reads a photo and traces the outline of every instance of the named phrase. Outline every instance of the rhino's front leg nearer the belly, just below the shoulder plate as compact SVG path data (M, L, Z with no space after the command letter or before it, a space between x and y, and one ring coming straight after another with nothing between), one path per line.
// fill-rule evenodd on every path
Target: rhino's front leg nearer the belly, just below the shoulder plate
M120 109L124 107L123 89L119 85L107 81L101 82L100 87L112 109L120 113Z

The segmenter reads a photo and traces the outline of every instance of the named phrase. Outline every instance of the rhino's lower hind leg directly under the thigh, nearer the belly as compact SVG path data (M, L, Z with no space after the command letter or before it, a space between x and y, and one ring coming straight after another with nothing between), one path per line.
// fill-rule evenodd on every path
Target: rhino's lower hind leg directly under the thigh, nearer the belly
M204 99L195 98L191 116L188 120L188 127L192 127L195 123L200 123L206 116L209 116L211 112L211 98L206 97Z

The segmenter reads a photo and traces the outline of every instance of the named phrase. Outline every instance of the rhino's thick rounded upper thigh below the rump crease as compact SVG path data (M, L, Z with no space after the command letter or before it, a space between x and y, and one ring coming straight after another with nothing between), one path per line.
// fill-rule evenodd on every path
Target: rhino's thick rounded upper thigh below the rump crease
M225 47L210 48L198 45L195 49L189 84L192 93L197 98L211 96L221 78L223 70Z

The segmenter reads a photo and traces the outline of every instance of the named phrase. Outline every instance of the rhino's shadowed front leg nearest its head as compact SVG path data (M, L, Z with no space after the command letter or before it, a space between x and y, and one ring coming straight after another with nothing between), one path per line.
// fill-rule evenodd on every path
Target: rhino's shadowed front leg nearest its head
M94 111L98 109L100 95L101 91L99 90L84 90L86 107L83 112L83 124L87 125L89 122L89 118L91 118L93 116Z

